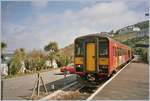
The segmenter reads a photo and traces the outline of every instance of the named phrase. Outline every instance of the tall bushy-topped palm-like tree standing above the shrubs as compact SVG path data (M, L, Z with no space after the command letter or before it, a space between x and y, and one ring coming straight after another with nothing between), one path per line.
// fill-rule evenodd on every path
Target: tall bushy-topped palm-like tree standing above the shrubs
M57 44L57 42L50 42L48 45L46 45L44 47L44 50L46 52L48 52L48 59L50 60L51 66L52 66L53 65L52 62L56 58L56 53L58 52L58 44Z

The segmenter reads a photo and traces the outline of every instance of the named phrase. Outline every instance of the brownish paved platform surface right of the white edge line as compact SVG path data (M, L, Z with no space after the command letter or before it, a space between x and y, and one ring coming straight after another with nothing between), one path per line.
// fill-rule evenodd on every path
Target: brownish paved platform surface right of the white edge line
M149 66L131 63L92 100L148 100Z

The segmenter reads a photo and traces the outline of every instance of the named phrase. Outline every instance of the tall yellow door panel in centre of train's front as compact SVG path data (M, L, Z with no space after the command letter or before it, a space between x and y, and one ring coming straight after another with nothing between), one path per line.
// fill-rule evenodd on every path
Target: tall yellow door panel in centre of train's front
M88 43L86 45L86 70L95 71L95 44Z

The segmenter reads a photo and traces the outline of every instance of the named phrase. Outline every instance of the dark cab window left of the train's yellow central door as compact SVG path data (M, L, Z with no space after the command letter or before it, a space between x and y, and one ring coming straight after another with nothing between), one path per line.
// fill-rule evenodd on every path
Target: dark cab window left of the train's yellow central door
M83 56L83 44L82 42L78 42L75 44L75 55Z

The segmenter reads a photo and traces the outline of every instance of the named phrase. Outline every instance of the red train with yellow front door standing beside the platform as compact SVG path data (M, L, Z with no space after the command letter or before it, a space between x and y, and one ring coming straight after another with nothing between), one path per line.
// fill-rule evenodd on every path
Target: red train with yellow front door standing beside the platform
M78 78L109 78L132 59L132 50L108 36L89 34L74 40L74 66Z

